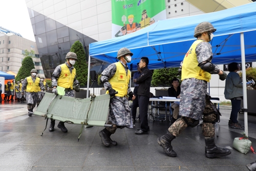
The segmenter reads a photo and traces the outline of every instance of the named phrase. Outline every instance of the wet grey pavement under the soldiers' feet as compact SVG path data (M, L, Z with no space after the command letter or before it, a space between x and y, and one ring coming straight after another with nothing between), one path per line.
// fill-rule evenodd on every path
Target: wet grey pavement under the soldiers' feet
M172 141L176 158L168 157L157 138L166 133L170 122L148 121L150 133L135 135L139 128L118 129L112 140L117 146L105 147L98 132L103 127L83 129L81 125L65 123L68 133L47 130L43 117L28 117L26 103L2 102L0 104L0 170L248 170L246 164L255 161L256 155L242 154L232 148L233 139L241 137L243 130L228 126L229 108L221 108L219 147L230 148L231 154L223 158L208 159L204 152L204 137L201 126L188 127L180 137ZM242 124L243 114L239 114ZM256 116L248 116L248 134L256 148Z

